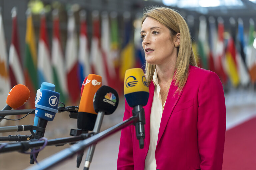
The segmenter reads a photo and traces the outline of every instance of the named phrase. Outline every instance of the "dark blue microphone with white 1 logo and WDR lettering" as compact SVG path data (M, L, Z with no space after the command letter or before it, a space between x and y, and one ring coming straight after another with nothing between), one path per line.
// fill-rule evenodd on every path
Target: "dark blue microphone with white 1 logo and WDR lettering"
M60 94L58 92L43 89L39 94L37 99L37 104L35 104L35 116L38 117L37 127L42 128L43 130L37 130L34 138L40 139L44 136L45 128L48 121L53 121L55 114L58 112L58 103L59 103ZM33 150L31 149L31 152ZM38 153L35 154L35 158ZM34 164L33 154L30 155L30 164Z

